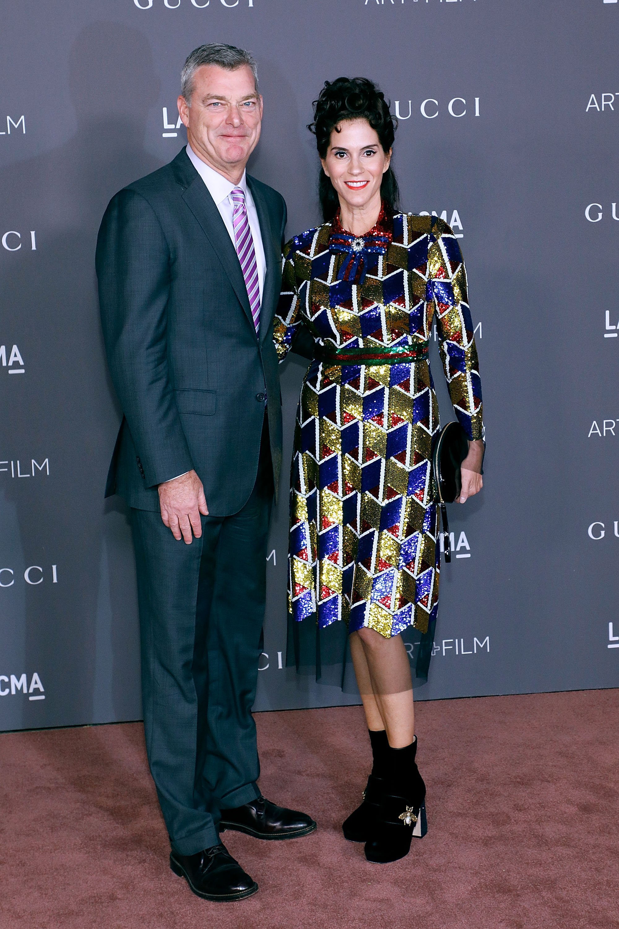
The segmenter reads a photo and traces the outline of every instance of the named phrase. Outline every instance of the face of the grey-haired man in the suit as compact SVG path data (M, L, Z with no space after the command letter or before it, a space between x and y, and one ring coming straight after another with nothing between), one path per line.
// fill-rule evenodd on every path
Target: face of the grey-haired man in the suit
M178 98L191 148L216 171L238 184L260 138L263 98L256 93L251 68L226 71L202 65L194 74L188 101Z

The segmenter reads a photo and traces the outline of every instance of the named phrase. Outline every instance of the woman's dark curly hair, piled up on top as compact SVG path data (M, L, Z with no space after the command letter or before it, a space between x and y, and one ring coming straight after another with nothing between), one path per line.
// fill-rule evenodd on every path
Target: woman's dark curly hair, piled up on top
M397 120L377 85L368 81L367 77L338 77L332 82L325 81L318 99L314 101L314 122L307 126L316 136L316 148L321 158L327 155L331 133L336 126L355 119L368 120L380 139L383 151L393 147ZM318 196L322 215L329 222L338 212L340 202L322 167L318 179ZM391 166L382 176L380 196L393 212L397 211L400 190Z

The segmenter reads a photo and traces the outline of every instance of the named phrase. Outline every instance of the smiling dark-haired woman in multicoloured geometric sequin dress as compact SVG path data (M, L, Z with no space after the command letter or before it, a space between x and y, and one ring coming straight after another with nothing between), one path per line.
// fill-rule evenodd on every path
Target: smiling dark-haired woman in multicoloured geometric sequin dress
M462 255L443 220L398 212L394 122L368 80L339 78L323 88L310 128L325 222L285 248L275 326L280 360L303 340L315 357L291 469L291 639L297 664L310 655L319 667L334 660L347 634L373 766L364 802L343 831L376 862L405 856L411 837L427 830L400 634L416 632L416 673L427 678L440 568L432 322L470 440L460 503L481 490L484 456Z

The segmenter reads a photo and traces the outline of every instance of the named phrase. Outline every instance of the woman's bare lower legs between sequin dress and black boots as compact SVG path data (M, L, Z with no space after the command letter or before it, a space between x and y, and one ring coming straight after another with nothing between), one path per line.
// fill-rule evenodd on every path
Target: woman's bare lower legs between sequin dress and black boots
M387 639L373 629L359 629L351 635L351 655L368 728L384 726L394 749L410 745L415 737L415 707L402 637Z

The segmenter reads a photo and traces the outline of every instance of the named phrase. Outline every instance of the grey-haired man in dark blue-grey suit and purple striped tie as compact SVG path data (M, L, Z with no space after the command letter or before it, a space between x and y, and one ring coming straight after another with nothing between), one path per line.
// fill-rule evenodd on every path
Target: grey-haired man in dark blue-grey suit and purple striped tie
M178 109L187 149L117 193L99 230L124 413L107 495L131 507L148 762L170 864L199 896L232 900L258 886L220 831L316 829L261 795L251 717L281 464L272 334L286 204L245 174L263 112L248 52L195 49Z

